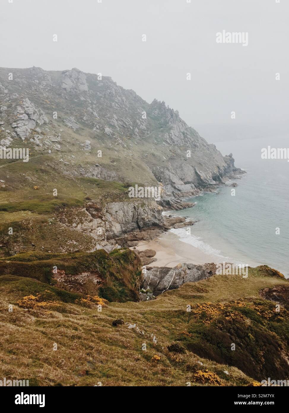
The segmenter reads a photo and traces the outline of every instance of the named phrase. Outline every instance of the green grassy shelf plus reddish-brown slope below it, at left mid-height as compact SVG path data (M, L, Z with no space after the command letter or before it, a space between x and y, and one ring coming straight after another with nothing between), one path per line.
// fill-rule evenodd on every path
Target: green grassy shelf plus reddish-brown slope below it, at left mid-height
M55 212L67 208L74 214L73 207L84 205L87 197L97 202L131 200L127 195L130 183L68 176L58 168L47 155L0 169L0 178L2 173L8 188L0 191L0 244L2 241L5 245L0 256L10 255L14 245L22 245L24 251L24 247L31 249L32 243L38 250L43 246L45 251L63 252L75 245L77 249L91 250L95 244L92 237L59 225ZM34 190L34 186L39 189ZM13 228L13 234L8 236L9 228Z

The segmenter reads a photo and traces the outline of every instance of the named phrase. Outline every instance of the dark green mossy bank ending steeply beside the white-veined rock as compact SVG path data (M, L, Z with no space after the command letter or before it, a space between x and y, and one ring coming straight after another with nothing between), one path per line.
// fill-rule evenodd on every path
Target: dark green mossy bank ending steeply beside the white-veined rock
M64 271L70 290L77 291L75 275L95 273L100 283L86 282L82 292L97 293L108 301L137 301L140 284L141 262L130 249L114 250L108 254L103 249L94 252L54 254L27 252L0 259L0 275L21 275L41 282L56 284L53 270ZM75 284L75 286L74 286Z

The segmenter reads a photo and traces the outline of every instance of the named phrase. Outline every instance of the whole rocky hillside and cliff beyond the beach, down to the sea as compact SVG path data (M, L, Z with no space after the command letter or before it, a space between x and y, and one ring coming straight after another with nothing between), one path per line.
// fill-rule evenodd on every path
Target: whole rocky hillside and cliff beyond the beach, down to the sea
M242 172L164 102L75 68L0 69L4 148L29 160L0 159L1 256L154 237L169 228L163 209L190 207L180 198ZM130 198L135 184L161 188L161 199Z

